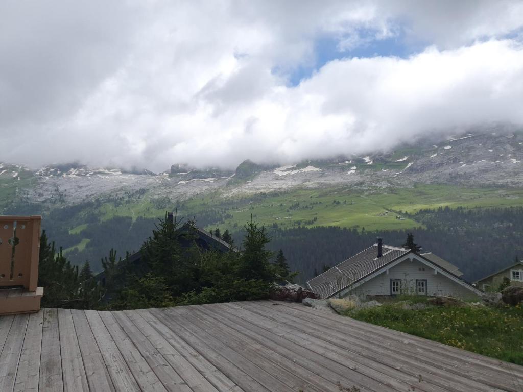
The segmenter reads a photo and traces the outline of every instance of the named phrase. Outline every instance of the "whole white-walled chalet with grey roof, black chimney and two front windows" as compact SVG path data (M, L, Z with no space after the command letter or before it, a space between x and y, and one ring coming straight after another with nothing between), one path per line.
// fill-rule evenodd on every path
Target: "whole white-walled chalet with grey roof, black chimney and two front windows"
M356 295L481 295L463 273L434 253L378 243L311 279L309 288L321 298Z

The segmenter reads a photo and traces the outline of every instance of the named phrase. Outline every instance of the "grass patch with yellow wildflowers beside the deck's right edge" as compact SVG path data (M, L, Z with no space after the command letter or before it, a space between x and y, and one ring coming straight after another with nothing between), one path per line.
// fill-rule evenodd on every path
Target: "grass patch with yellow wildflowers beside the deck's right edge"
M351 317L523 365L523 308L484 306L410 310L389 303Z

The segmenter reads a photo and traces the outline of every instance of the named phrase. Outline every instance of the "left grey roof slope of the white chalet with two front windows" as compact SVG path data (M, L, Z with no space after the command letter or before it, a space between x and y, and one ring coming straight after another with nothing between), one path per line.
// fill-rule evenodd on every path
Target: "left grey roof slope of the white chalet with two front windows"
M327 298L410 252L410 249L390 245L383 245L382 249L383 256L378 258L378 244L374 244L316 276L307 284L316 295Z

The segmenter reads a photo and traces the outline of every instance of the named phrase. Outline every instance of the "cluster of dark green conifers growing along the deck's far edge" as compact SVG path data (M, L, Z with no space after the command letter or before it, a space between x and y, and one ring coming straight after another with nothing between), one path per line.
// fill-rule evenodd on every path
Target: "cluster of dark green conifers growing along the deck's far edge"
M292 280L283 252L267 249L264 225L244 226L241 252L205 250L196 245L194 222L185 225L160 219L140 249L140 258L117 259L117 252L100 260L103 281L89 262L73 266L61 248L40 238L39 285L42 306L84 309L133 309L268 298L275 283Z

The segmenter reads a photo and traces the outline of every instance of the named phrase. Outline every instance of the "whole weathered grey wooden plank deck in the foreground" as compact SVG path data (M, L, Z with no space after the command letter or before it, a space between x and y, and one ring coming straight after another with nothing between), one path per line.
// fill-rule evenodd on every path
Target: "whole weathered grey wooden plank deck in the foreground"
M0 317L0 391L523 391L523 366L299 304Z

